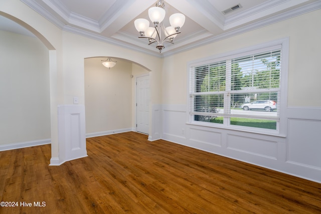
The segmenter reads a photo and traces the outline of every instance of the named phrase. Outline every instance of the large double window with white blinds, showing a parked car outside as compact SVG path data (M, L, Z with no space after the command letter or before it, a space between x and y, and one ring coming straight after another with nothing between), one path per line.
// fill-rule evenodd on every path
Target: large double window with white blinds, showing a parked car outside
M288 57L275 43L191 64L190 122L279 133Z

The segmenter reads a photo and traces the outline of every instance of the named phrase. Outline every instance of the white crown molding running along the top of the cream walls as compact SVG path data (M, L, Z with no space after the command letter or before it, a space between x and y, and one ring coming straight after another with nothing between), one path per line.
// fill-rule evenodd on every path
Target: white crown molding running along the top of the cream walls
M52 22L54 25L56 25L58 28L60 28L63 31L74 33L74 34L77 34L77 35L80 35L80 36L84 36L84 37L87 37L87 38L91 38L91 39L94 39L94 40L98 40L98 41L101 41L101 42L105 42L105 43L108 43L108 44L112 44L112 45L115 45L115 46L119 46L119 47L122 47L122 48L138 51L138 52L141 52L143 54L148 54L148 55L152 55L152 56L160 57L160 58L169 57L169 56L174 55L174 54L178 54L178 53L181 53L181 52L184 52L184 51L192 50L192 49L197 48L199 46L203 46L203 45L206 45L206 44L209 44L209 43L213 43L213 42L217 42L217 41L220 41L220 40L223 40L223 39L227 39L227 38L233 37L235 35L239 35L239 34L242 34L242 33L248 32L248 31L252 31L252 30L255 30L255 29L270 25L270 24L274 24L276 22L280 22L280 21L283 21L283 20L286 20L286 19L290 19L290 18L299 16L299 15L302 15L302 14L305 14L305 13L309 13L309 12L321 9L321 1L317 1L317 2L314 2L314 3L308 4L308 5L302 6L300 8L293 9L293 10L288 11L286 13L279 14L279 15L273 16L271 18L267 18L267 19L264 19L264 20L261 20L261 21L258 21L258 22L252 23L252 24L248 24L248 25L244 24L244 26L242 26L240 28L236 28L234 30L231 30L231 31L228 31L226 33L220 34L218 36L213 36L213 37L208 38L208 36L210 36L210 35L207 35L206 37L204 37L204 39L201 39L201 41L195 42L193 44L190 43L189 45L181 45L180 47L177 46L177 47L169 49L169 50L164 50L164 52L162 52L160 54L158 52L158 50L156 50L156 49L155 50L149 50L147 44L146 44L147 48L142 48L142 47L138 47L136 45L132 45L132 44L128 44L128 43L125 43L125 42L121 42L121 41L117 40L116 38L106 38L106 37L97 35L97 34L92 33L92 32L88 32L88 31L85 31L85 30L82 30L82 29L78 29L78 28L75 28L73 26L68 26L65 23L63 23L61 20L59 20L56 17L52 16L49 13L48 10L46 10L44 7L42 7L35 0L21 0L21 1L23 3L25 3L26 5L28 5L30 8L32 8L34 11L36 11L37 13L39 13L40 15L45 17L47 20ZM47 0L47 1L49 1L49 0ZM272 0L267 5L263 4L263 6L272 7L272 4L275 3L276 1L277 0ZM282 0L281 3L288 2L288 1L289 0ZM256 9L249 10L247 12L247 14L250 15L250 14L254 13L255 10L258 11L258 10L260 10L260 8L263 8L263 6L261 5L261 6L257 7ZM75 17L77 17L77 16L75 15ZM77 18L80 19L80 20L82 19L81 17L77 17ZM233 17L230 20L227 20L227 22L230 22L233 19L236 19L236 17ZM96 32L96 31L94 31L94 32ZM184 44L184 43L187 44L188 43L187 41L190 41L190 40L184 40L184 41L178 43L177 45ZM135 42L134 44L137 44L137 42Z

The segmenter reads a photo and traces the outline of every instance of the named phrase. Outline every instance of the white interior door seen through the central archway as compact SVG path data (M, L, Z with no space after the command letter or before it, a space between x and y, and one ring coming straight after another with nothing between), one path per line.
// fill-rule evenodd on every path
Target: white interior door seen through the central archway
M149 134L149 76L136 79L136 131Z

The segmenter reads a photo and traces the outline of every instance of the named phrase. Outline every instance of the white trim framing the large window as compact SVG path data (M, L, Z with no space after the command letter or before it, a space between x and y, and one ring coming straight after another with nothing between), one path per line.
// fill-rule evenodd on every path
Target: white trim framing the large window
M273 47L277 47L277 46L281 46L280 50L281 50L282 71L280 74L280 97L279 97L280 99L278 102L279 120L277 122L276 130L227 124L226 122L227 117L232 115L222 115L224 116L223 124L194 121L193 115L190 113L190 102L191 102L190 89L192 87L190 85L190 72L193 72L192 71L193 67L226 60L231 56L233 56L233 58L237 58L237 57L250 55L251 53L257 52L257 51L260 51L260 52L270 51L271 49L273 49ZM231 52L221 53L221 54L217 54L210 57L201 58L201 59L188 62L187 64L187 122L186 123L191 125L204 126L204 127L223 128L223 129L229 129L229 130L237 130L237 131L286 137L288 60L289 60L289 38L283 38L283 39L262 43L259 45L255 45L255 46L251 46L251 47L247 47L247 48L243 48L243 49L239 49Z

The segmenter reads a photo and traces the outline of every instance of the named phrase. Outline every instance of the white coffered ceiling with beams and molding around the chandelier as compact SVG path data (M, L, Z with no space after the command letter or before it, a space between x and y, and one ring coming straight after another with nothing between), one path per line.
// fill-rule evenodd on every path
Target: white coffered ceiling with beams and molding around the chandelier
M160 54L155 44L148 46L147 39L138 38L134 27L137 18L149 20L148 9L156 0L21 1L64 31L160 57L321 8L320 0L167 0L165 26L174 13L183 13L186 22L175 44L165 43ZM222 13L237 4L240 9Z

